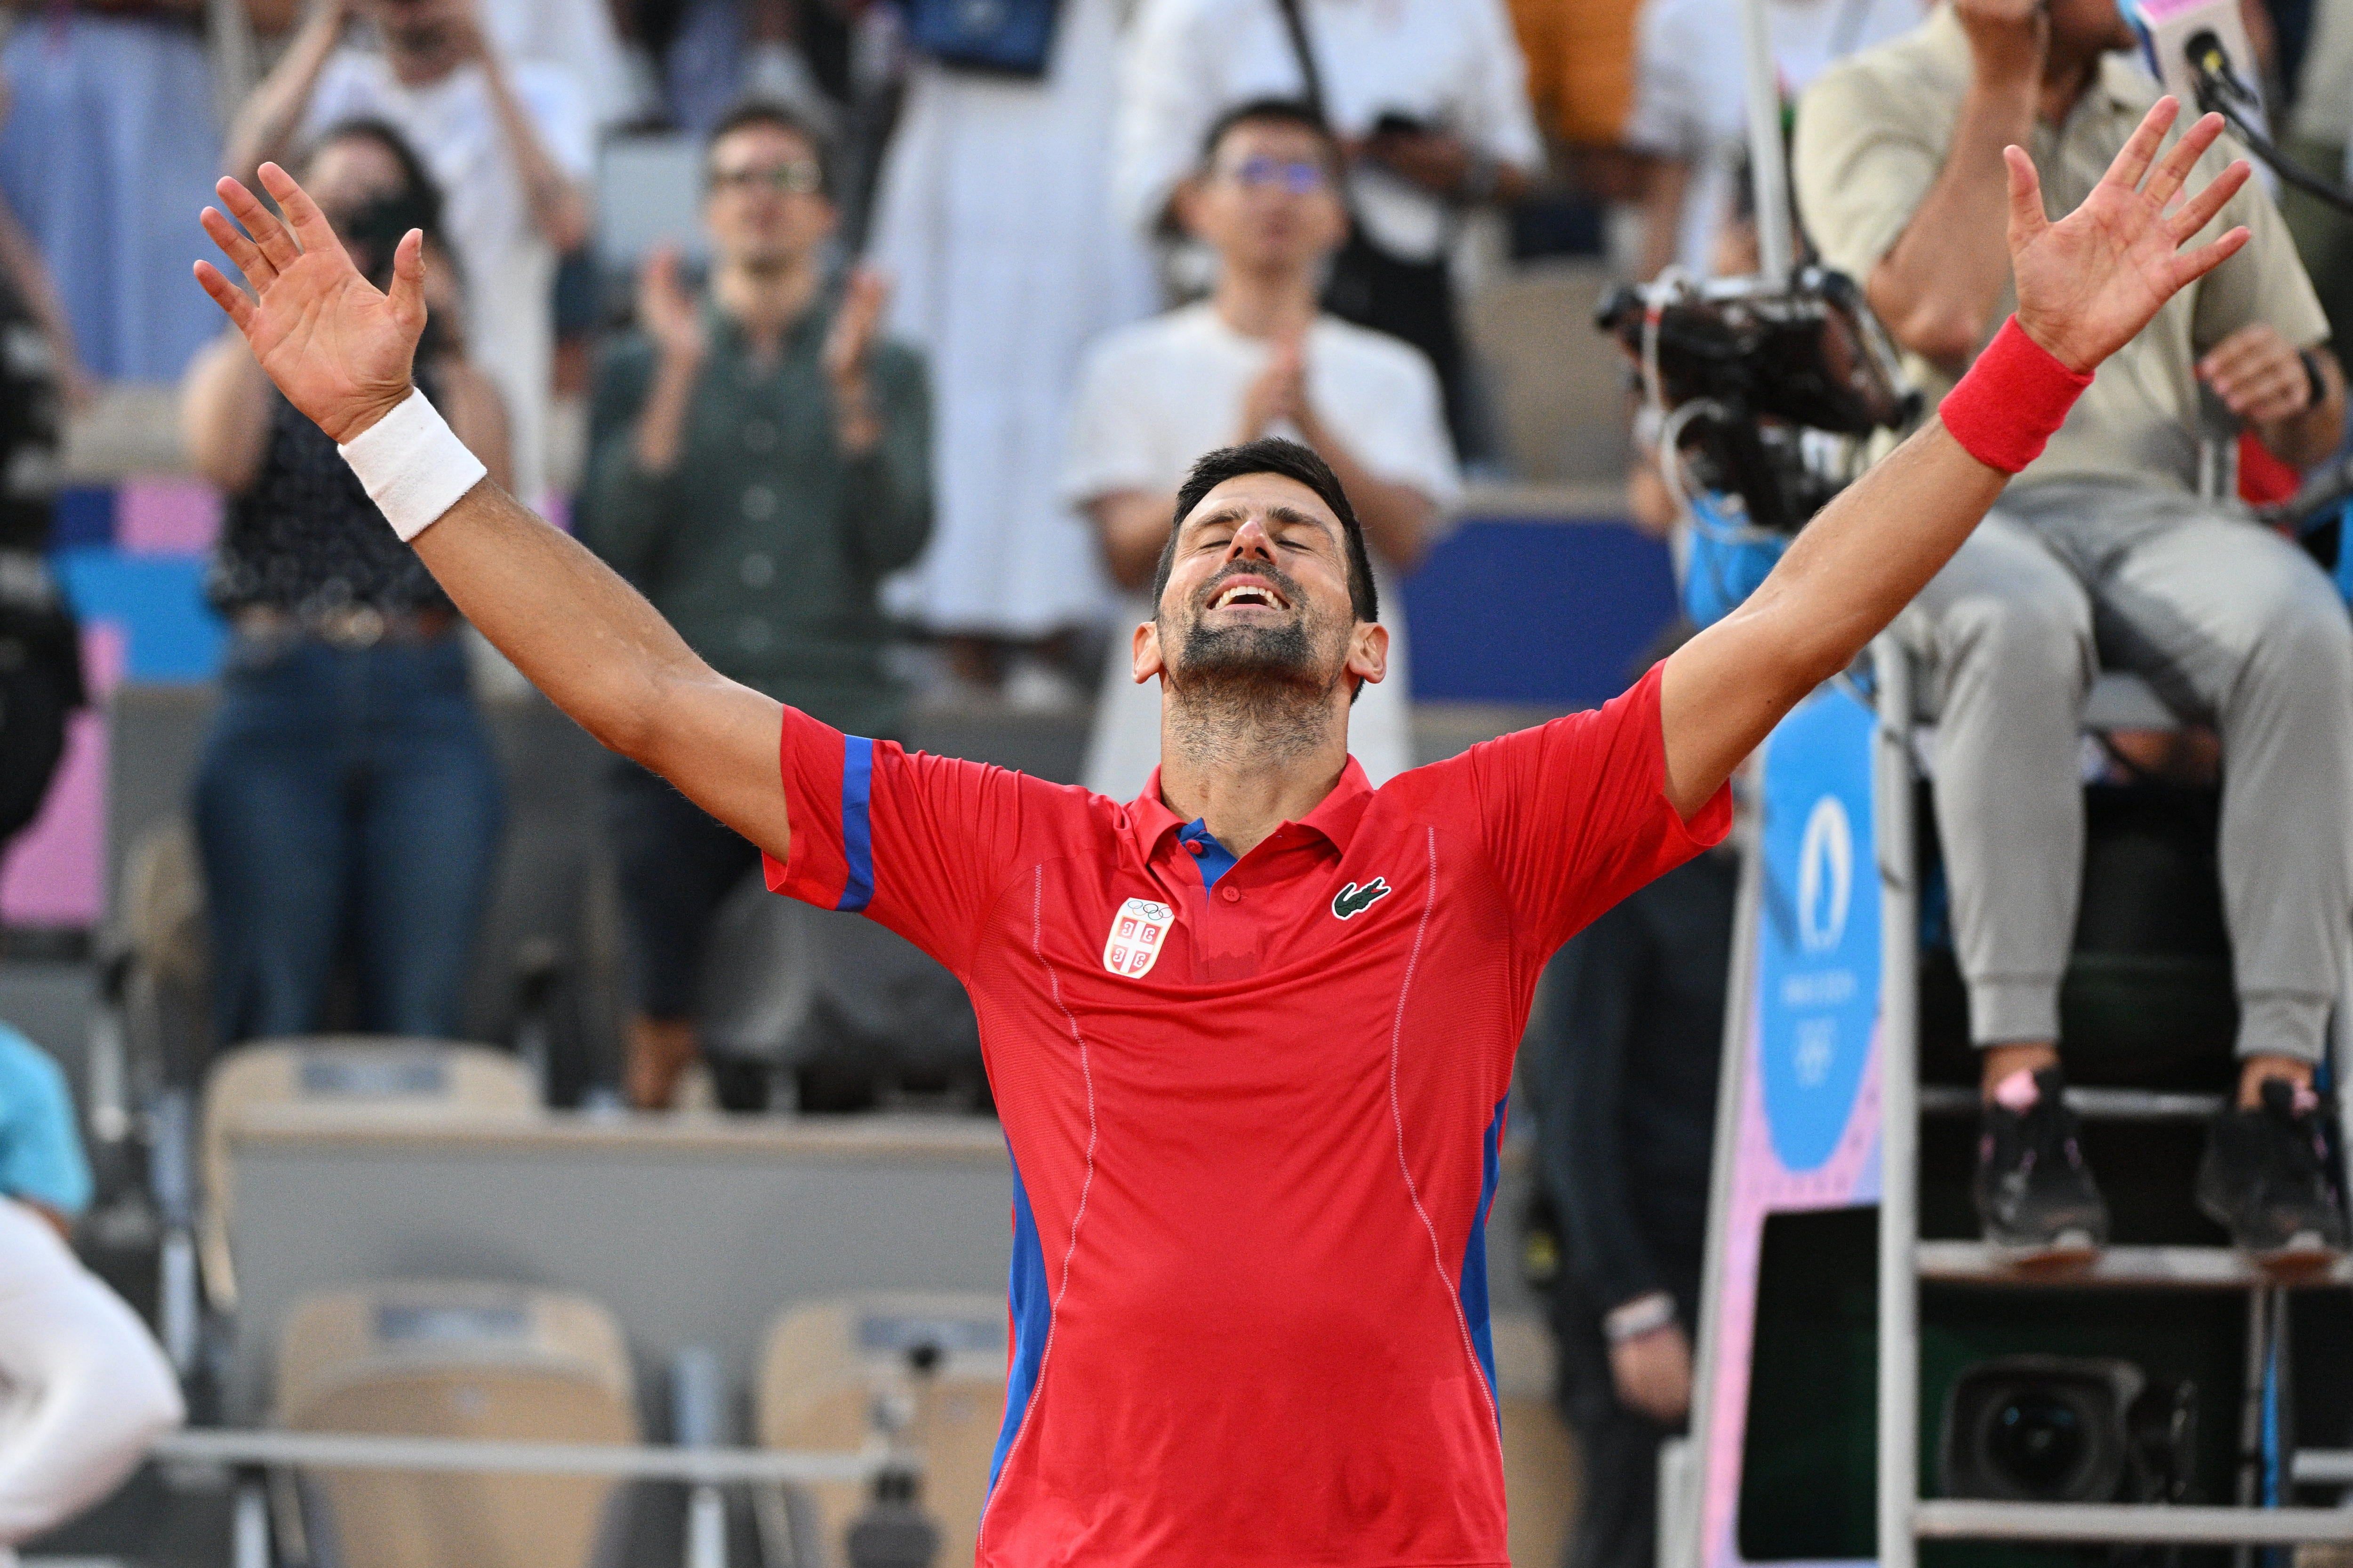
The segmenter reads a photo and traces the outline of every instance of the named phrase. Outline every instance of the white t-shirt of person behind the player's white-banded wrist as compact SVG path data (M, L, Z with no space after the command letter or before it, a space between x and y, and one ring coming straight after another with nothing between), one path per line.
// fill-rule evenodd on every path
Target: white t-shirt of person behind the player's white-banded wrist
M595 160L595 125L562 66L520 61L508 80L539 146L574 181ZM506 146L480 66L405 87L372 49L341 49L311 94L304 134L336 120L398 127L442 190L442 226L466 273L466 355L499 386L515 454L515 494L536 503L548 484L548 371L555 355L555 247L532 226L522 174Z

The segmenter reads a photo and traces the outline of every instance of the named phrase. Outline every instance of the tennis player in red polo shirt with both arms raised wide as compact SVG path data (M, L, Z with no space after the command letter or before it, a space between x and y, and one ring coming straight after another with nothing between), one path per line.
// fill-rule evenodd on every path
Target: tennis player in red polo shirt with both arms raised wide
M1348 701L1388 635L1304 447L1214 451L1184 484L1134 632L1160 769L1122 804L713 675L414 390L416 235L379 294L264 165L285 221L226 179L252 237L202 219L252 294L195 270L541 691L758 844L769 886L880 919L972 990L1014 1159L981 1563L1501 1566L1482 1227L1537 971L1725 835L1734 764L1953 555L2092 369L2245 244L2184 252L2247 165L2184 193L2221 120L2160 158L2172 120L2167 99L2059 223L2007 150L2017 317L1741 611L1598 712L1381 790Z

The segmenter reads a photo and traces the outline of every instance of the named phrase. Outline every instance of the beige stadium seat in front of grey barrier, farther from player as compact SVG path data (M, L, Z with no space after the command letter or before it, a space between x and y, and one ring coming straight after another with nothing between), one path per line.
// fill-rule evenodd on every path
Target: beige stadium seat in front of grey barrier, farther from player
M292 1432L635 1443L621 1328L593 1300L496 1284L386 1284L296 1302L278 1340ZM586 1568L621 1540L616 1481L304 1476L304 1556L336 1568Z

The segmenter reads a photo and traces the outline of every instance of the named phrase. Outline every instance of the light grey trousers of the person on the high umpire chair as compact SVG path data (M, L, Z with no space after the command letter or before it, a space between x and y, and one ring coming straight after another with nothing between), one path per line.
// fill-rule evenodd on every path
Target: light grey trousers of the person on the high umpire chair
M2059 1037L2080 715L2129 670L2221 736L2238 1053L2320 1060L2353 938L2353 623L2297 545L2127 484L2012 491L1897 621L1939 708L1937 827L1979 1046Z

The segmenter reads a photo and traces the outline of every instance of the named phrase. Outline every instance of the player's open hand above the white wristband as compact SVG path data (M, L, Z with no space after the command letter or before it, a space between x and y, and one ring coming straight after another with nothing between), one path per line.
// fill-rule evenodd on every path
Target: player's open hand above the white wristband
M379 294L292 174L266 162L261 183L287 221L233 179L214 190L252 237L212 207L200 219L254 296L209 261L195 263L195 280L245 334L254 362L287 402L336 442L348 442L409 395L416 336L426 329L424 235L412 228L400 237L393 292Z

